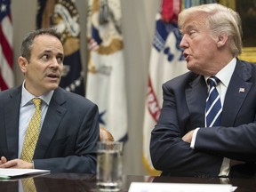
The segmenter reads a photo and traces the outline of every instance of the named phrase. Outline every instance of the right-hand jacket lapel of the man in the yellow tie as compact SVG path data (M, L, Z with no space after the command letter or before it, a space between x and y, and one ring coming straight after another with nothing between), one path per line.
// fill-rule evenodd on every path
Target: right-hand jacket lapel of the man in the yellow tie
M58 129L60 121L67 111L66 108L61 106L65 101L60 88L55 90L44 118L44 124L36 144L34 158L44 158L44 154L47 148L49 148L54 133Z

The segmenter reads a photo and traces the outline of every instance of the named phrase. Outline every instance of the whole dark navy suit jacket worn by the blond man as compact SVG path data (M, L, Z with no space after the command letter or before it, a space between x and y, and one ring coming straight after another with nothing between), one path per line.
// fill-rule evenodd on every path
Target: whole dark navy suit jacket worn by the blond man
M164 103L151 132L152 163L163 175L218 177L223 157L246 162L230 177L256 172L256 65L237 60L223 104L220 127L197 132L195 149L181 140L204 127L207 85L204 76L188 72L163 84Z

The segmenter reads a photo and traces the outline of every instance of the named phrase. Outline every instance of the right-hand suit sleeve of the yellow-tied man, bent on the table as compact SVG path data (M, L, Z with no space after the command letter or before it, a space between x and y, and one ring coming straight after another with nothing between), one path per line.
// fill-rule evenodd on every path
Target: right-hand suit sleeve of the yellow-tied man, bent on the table
M80 115L77 114L77 116ZM72 129L72 126L69 129ZM63 157L35 159L35 168L51 170L51 172L95 173L96 144L100 140L99 135L99 112L98 107L93 104L90 108L86 108L86 114L77 132L74 153Z

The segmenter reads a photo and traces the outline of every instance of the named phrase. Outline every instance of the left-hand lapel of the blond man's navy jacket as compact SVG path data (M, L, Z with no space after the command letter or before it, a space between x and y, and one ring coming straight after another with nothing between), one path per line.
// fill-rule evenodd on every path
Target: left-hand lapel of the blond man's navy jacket
M185 93L189 114L193 116L193 119L190 119L193 126L191 129L204 126L205 104L202 105L202 100L206 100L207 97L207 85L204 76L197 76L196 79L190 82Z

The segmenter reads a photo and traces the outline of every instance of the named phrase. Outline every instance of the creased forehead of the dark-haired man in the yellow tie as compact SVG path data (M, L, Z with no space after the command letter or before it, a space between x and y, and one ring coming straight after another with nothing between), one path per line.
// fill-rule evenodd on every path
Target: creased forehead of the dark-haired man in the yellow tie
M48 34L36 36L32 45L32 50L44 51L44 49L63 53L63 46L60 40L56 36Z

